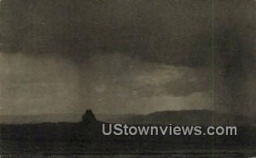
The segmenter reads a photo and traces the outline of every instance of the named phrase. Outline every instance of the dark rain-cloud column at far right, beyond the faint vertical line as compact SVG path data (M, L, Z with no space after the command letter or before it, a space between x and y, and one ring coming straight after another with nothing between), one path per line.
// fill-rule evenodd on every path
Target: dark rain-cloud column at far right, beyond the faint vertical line
M216 1L216 107L234 113L255 113L256 2Z

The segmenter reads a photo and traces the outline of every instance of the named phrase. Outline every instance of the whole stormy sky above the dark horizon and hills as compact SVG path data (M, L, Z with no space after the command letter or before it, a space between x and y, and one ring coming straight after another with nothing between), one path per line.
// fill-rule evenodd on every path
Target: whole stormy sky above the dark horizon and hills
M253 115L255 7L253 0L3 0L0 115L88 108Z

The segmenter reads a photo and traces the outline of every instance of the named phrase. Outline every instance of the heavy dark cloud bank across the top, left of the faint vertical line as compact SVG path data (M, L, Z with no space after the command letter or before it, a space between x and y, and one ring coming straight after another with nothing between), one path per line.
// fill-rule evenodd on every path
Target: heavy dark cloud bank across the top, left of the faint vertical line
M1 34L12 51L70 58L119 51L154 62L207 65L211 1L5 0ZM201 38L201 39L200 39Z

